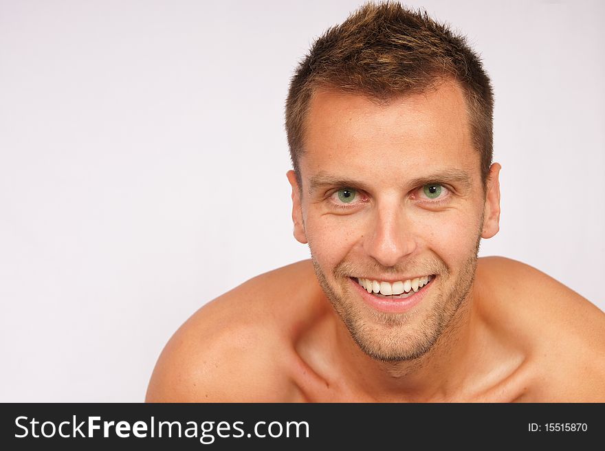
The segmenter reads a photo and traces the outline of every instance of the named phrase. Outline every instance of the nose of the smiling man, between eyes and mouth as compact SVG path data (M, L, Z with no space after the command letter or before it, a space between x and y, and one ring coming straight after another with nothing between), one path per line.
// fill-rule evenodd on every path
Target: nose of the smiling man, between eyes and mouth
M401 204L376 206L364 240L366 254L385 267L395 266L417 248L413 223Z

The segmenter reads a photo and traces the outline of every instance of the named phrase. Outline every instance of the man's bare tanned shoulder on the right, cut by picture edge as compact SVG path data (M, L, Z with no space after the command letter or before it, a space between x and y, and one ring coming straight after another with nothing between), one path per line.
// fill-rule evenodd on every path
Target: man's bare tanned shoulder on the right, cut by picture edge
M485 316L527 355L525 400L605 401L603 311L511 259L479 259L476 282Z

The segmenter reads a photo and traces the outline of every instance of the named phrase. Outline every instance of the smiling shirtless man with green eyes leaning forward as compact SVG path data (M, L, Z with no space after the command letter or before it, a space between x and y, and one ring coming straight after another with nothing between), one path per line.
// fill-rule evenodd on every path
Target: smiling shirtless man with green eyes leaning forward
M294 236L311 261L201 308L148 401L605 401L605 314L498 232L492 88L444 25L365 5L292 79Z

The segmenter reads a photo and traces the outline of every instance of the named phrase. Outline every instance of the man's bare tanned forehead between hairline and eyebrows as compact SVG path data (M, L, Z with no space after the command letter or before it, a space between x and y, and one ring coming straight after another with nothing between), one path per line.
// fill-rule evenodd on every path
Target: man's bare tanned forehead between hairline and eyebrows
M309 105L305 138L299 160L303 179L351 172L383 179L439 170L479 175L464 94L453 82L382 103L318 91Z

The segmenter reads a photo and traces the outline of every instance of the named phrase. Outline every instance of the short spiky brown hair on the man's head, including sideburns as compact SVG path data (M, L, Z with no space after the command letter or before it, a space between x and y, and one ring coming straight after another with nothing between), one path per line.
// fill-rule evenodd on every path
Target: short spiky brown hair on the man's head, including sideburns
M492 164L494 94L481 60L464 36L426 12L399 3L366 3L320 36L298 65L290 82L285 124L299 182L298 157L304 151L305 119L316 89L384 101L426 92L445 80L455 80L464 91L485 185Z

